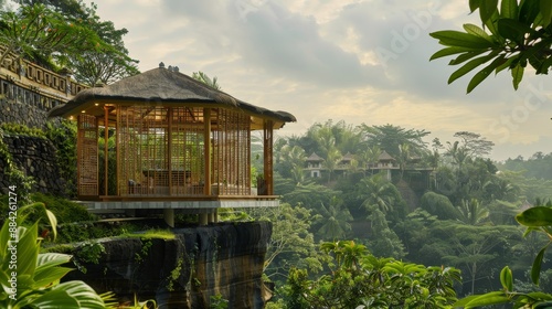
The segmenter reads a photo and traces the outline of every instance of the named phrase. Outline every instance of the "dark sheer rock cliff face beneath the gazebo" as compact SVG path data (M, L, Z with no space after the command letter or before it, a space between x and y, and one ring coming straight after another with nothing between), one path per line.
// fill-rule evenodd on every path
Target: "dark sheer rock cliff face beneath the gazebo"
M229 308L264 308L262 283L268 222L227 223L176 230L174 239L104 241L99 264L83 264L64 280L86 281L96 291L155 299L160 308L209 308L211 296ZM76 256L83 256L76 253Z

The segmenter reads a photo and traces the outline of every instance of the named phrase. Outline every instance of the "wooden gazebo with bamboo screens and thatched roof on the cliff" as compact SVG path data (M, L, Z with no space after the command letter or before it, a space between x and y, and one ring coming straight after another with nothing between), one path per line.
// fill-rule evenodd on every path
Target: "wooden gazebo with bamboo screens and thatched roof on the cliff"
M274 206L273 131L295 117L256 107L160 66L78 93L50 117L77 121L77 193L95 209ZM251 131L264 174L252 188Z

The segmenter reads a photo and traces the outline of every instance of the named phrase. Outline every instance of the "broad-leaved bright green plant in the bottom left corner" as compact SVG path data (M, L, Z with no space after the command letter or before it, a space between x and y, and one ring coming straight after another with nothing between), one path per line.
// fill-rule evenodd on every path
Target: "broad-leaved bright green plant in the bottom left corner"
M43 204L13 210L0 231L0 297L2 308L106 308L102 296L83 281L60 284L71 268L62 265L71 256L59 253L39 254L41 239L34 223L23 226L25 212ZM46 210L55 235L55 216Z

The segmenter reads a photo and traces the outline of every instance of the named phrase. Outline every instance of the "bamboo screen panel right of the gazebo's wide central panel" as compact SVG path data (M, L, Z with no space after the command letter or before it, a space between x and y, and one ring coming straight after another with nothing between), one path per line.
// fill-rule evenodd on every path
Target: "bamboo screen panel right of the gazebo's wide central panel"
M219 108L214 113L213 193L251 195L250 117L243 113Z

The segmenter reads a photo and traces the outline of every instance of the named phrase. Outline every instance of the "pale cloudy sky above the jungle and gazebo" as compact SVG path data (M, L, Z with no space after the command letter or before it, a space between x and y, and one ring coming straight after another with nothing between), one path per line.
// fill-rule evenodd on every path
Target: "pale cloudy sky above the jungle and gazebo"
M91 1L87 0L86 3ZM443 143L471 131L496 143L491 158L552 152L552 83L509 72L466 94L448 85L449 58L428 33L479 24L467 0L94 0L97 14L125 28L141 72L160 62L216 76L232 96L291 113L279 136L316 122L391 124L424 129Z

